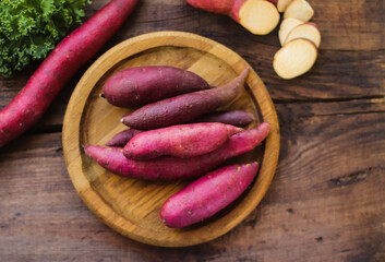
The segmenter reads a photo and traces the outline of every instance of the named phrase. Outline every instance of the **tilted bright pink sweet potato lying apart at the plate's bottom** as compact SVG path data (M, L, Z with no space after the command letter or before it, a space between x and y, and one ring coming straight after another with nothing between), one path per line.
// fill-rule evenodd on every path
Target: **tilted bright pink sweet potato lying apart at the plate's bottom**
M254 162L206 174L164 203L161 221L168 227L180 228L213 216L244 192L257 170Z

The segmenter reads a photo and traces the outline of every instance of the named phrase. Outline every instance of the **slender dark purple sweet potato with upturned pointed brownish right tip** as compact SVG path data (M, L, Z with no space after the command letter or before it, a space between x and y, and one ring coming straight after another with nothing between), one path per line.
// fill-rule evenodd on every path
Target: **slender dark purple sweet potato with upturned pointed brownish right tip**
M121 121L131 128L140 130L190 122L233 100L243 88L248 73L249 68L224 86L179 95L148 104L124 116Z

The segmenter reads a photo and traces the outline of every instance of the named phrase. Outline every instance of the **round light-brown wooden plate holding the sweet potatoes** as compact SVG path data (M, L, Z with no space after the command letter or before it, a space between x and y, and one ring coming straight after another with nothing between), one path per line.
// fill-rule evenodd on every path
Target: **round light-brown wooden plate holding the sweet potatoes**
M265 195L279 153L279 127L269 94L251 70L245 91L226 108L254 114L272 124L267 140L229 163L261 164L257 178L236 202L214 217L182 229L166 227L159 218L163 203L190 181L143 181L113 175L87 157L83 146L104 145L125 127L120 118L130 109L101 98L106 80L115 72L139 66L172 66L195 72L210 85L221 85L250 67L229 48L205 37L181 32L158 32L128 39L108 50L85 72L74 90L63 124L63 152L71 180L89 210L118 233L141 242L183 247L217 238L242 222Z

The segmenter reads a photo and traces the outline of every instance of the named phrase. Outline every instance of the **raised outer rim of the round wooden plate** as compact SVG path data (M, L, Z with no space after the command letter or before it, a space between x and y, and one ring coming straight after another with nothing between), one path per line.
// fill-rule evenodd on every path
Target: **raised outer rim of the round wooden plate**
M82 158L82 154L84 154L84 151L82 148L83 145L80 144L80 139L79 139L80 138L80 129L81 129L80 123L81 123L81 118L82 118L83 111L77 112L77 115L75 115L75 116L72 111L74 108L72 105L74 103L79 103L79 99L84 102L82 104L82 107L84 108L92 88L89 90L89 92L87 92L88 95L86 97L79 98L79 93L82 91L82 87L84 86L85 83L95 82L94 84L92 84L92 86L95 86L95 84L98 82L98 80L99 80L98 78L94 78L97 80L94 80L94 81L92 80L93 79L92 78L93 71L95 71L96 69L100 70L100 68L101 68L103 72L100 74L104 75L108 70L111 69L111 67L105 66L106 63L104 63L104 62L107 59L109 59L112 53L117 53L117 55L121 53L121 56L118 56L120 59L118 59L118 61L113 62L113 64L117 64L118 62L127 59L128 57L131 57L135 53L140 53L146 49L165 46L165 44L167 41L164 43L160 40L165 37L167 37L168 39L170 39L170 37L172 37L172 43L171 43L172 45L168 44L167 46L180 47L181 46L181 44L179 43L180 38L188 38L189 39L188 43L183 43L183 47L196 48L195 43L200 43L201 45L204 44L203 48L205 48L205 49L198 48L200 50L204 50L208 53L214 55L215 57L218 57L219 59L222 59L238 74L240 74L241 71L245 67L250 67L251 70L250 70L250 73L249 73L249 76L246 80L248 84L249 84L249 86L251 86L249 82L250 82L250 79L252 79L252 81L256 81L257 84L261 85L260 92L264 93L263 94L264 99L262 100L262 98L260 96L255 96L256 106L258 107L257 109L261 112L263 120L268 121L272 124L270 126L270 133L265 141L265 150L264 150L262 163L260 163L261 165L260 165L258 176L257 176L256 180L254 181L254 184L251 188L251 191L248 193L248 194L250 194L251 192L256 191L255 192L256 195L254 195L255 198L253 199L252 203L249 203L248 205L244 206L244 211L242 212L242 214L245 214L245 215L238 216L236 221L232 221L231 223L229 223L231 225L229 225L229 224L224 225L224 227L221 227L221 230L218 230L217 234L210 234L210 237L207 237L207 238L202 237L198 239L189 239L185 242L172 242L172 241L165 242L165 241L154 240L152 238L146 238L145 236L139 236L136 234L132 234L127 230L122 230L122 227L120 226L120 224L124 223L125 219L123 217L120 217L118 214L113 215L113 210L108 206L103 210L96 209L94 206L95 201L96 202L104 202L104 201L96 192L94 192L94 190L92 189L92 187L89 184L89 181L86 179L85 175L83 174L83 170L81 167L81 162L82 162L81 158ZM140 45L139 45L143 41L152 41L154 39L157 39L156 43L153 43L153 45L156 45L156 46L140 47ZM131 51L132 53L128 55L127 52L124 52L124 49L127 49L127 46L130 46L132 48L132 51ZM122 52L124 52L124 55ZM221 53L226 53L226 59L224 59L224 57L220 57ZM229 53L231 53L230 57L228 56ZM253 83L253 84L255 85L256 83ZM267 109L269 109L269 110L267 110ZM75 123L74 123L74 119L76 119ZM75 138L77 138L77 142L70 140L70 138L74 136L74 132L76 133ZM71 144L72 144L72 146L71 146ZM268 146L270 144L275 144L275 146ZM264 83L262 82L260 76L256 74L256 72L253 70L253 68L241 56L239 56L237 52L234 52L230 48L228 48L228 47L226 47L226 46L224 46L213 39L206 38L204 36L200 36L200 35L193 34L193 33L187 33L187 32L160 31L160 32L146 33L146 34L139 35L139 36L135 36L135 37L132 37L132 38L129 38L127 40L121 41L120 44L116 45L115 47L107 50L104 55L101 55L85 71L85 73L83 74L83 76L81 78L79 83L76 84L76 86L71 95L67 110L65 110L64 120L63 120L63 128L62 128L62 145L63 145L63 155L64 155L64 159L65 159L65 166L67 166L68 172L70 175L72 184L74 186L76 192L82 198L83 202L93 212L93 214L96 215L97 217L99 217L106 225L108 225L113 230L120 233L121 235L123 235L125 237L129 237L131 239L134 239L140 242L144 242L147 245L158 246L158 247L188 247L188 246L193 246L193 245L198 245L198 243L203 243L206 241L210 241L215 238L218 238L218 237L227 234L229 230L231 230L233 227L236 227L238 224L240 224L248 215L250 215L250 213L253 210L256 209L256 206L260 204L261 200L266 194L266 192L272 183L272 180L274 178L274 175L275 175L275 170L276 170L278 157L279 157L280 133L279 133L278 117L277 117L275 106L273 104L273 100L269 96L267 88L265 87ZM74 146L74 145L77 145L77 146ZM83 151L83 152L81 152L81 151ZM75 152L79 155L76 157L76 158L79 158L76 160L77 163L74 163L74 162L72 162L72 159L69 158L70 152L72 152L72 153ZM270 163L268 166L266 166L267 160L265 158L268 158L268 162ZM70 162L72 162L72 163L70 163ZM73 169L75 169L76 167L80 168L82 171L75 172ZM261 176L262 172L267 174L268 176L262 178L262 176ZM93 201L91 201L91 199L93 199ZM242 204L242 202L240 204ZM106 205L106 203L105 203L105 205ZM108 210L108 209L110 209L110 210ZM111 219L111 218L108 219L107 217L111 217L111 216L106 216L107 213L111 214L113 219ZM224 217L226 217L226 216L224 216ZM220 219L221 218L219 218L218 221L220 221ZM125 221L125 223L130 223L130 222ZM134 225L132 225L132 226L134 226Z

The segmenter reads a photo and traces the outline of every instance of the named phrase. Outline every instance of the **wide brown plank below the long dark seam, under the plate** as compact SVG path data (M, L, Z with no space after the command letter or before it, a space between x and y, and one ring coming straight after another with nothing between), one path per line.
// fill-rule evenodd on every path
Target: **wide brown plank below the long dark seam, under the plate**
M276 105L281 153L261 205L224 237L163 249L106 227L71 184L61 134L0 150L4 261L383 261L383 99Z

